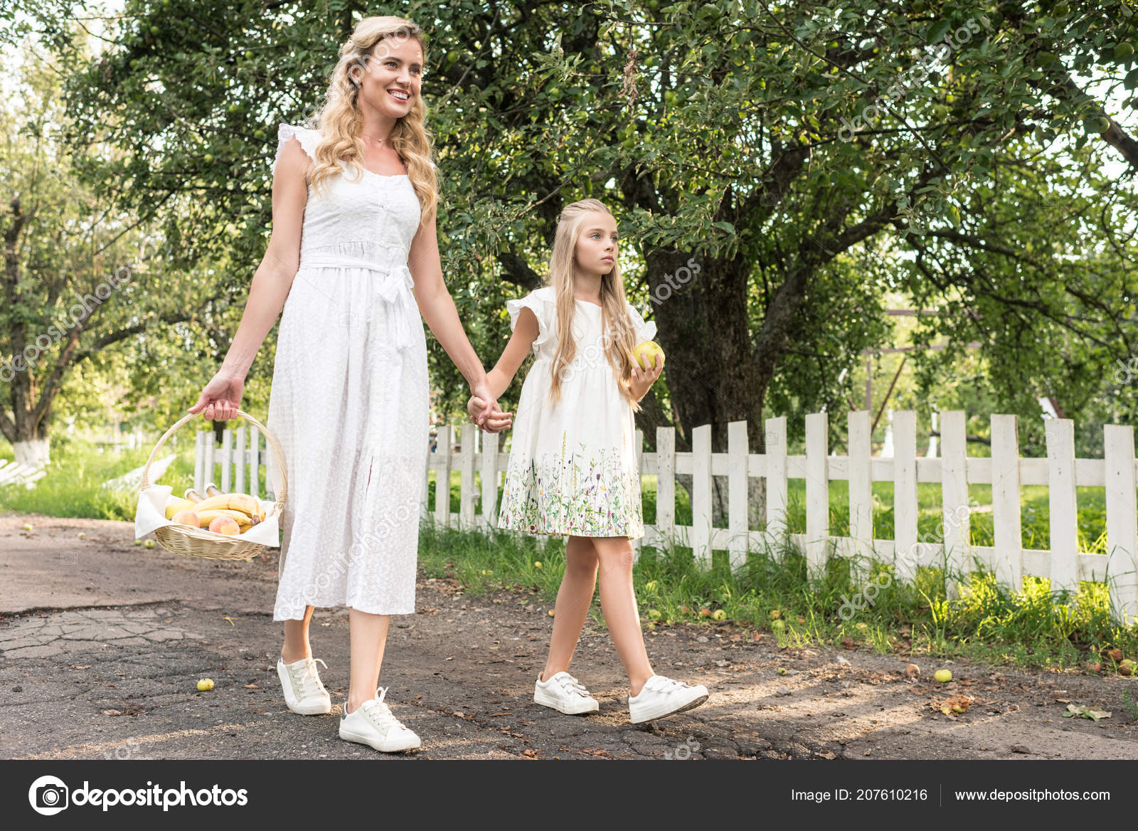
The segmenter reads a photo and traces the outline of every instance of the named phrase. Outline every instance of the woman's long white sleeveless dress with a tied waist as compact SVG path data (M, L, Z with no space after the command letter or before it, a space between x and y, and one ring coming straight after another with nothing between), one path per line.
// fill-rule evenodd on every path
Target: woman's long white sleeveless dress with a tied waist
M320 134L281 124L277 159L292 135L313 157ZM274 620L306 606L415 610L429 404L407 254L420 206L405 174L341 166L322 195L308 186L277 336L266 426L288 496Z

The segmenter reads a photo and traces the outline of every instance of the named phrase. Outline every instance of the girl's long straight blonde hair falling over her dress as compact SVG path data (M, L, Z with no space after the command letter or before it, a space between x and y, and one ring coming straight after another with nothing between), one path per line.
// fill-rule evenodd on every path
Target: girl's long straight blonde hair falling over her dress
M594 211L612 215L599 199L580 199L566 205L558 219L558 231L553 238L553 253L550 255L550 274L546 285L553 287L556 298L558 314L558 351L551 368L552 384L550 396L556 402L561 400L561 381L572 373L578 363L593 361L594 351L585 346L586 354L577 356L577 345L572 338L572 318L577 311L574 298L574 250L577 238L587 215ZM628 384L633 375L633 349L636 348L636 330L628 315L625 301L624 281L620 278L619 257L612 258L612 271L601 278L601 328L604 335L597 348L612 367L621 395L640 412L640 402L633 398ZM593 354L591 354L593 353ZM576 361L575 361L576 359Z

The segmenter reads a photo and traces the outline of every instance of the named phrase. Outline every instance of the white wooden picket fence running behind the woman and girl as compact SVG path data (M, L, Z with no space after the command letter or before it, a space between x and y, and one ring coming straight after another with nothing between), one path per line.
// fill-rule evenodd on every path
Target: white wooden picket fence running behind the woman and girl
M1111 607L1120 620L1138 615L1138 510L1133 427L1104 427L1104 458L1077 459L1074 423L1070 419L1047 419L1047 458L1020 458L1016 417L992 414L991 456L970 458L965 444L965 413L940 413L939 456L917 454L916 413L901 410L893 414L892 456L871 453L871 413L848 413L849 447L847 455L832 455L827 446L827 414L806 417L806 454L786 453L785 417L766 420L766 452L751 453L748 423L727 426L727 452L711 452L711 426L692 431L692 451L677 453L675 429L657 428L654 453L642 452L643 435L636 431L637 456L642 476L657 477L655 523L645 526L641 545L685 545L695 557L708 562L711 550L725 550L732 566L741 565L748 550L777 551L786 538L789 479L806 480L806 533L790 534L790 541L805 553L811 570L817 573L831 554L852 557L864 565L869 559L893 562L900 579L912 579L921 566L947 566L948 574L963 575L974 563L991 569L1001 584L1020 587L1024 575L1048 577L1053 591L1078 592L1079 581L1106 582ZM208 480L217 482L206 471L221 464L220 487L257 492L258 479L253 460L264 463L269 450L257 447L259 434L251 430L253 445L246 447L245 427L225 430L220 450L214 447L213 433L198 434L198 464L195 484L200 491ZM232 434L232 435L231 435ZM435 471L436 482L450 482L452 470L460 471L460 508L451 511L448 487L438 487L435 504L427 504L423 488L421 516L432 515L436 523L460 528L485 528L496 525L502 475L509 455L498 450L500 435L486 434L464 423L456 434L440 426L437 447L428 453L427 477ZM454 450L452 445L456 445ZM247 464L237 464L244 460ZM229 463L225 463L229 462ZM230 467L236 474L230 477ZM249 476L245 470L248 467ZM480 483L476 489L475 472ZM692 476L692 525L676 524L676 475ZM727 527L712 527L712 477L727 480ZM766 478L766 527L753 529L748 523L748 480ZM830 483L849 483L849 536L830 533ZM874 535L874 482L893 483L893 538ZM940 483L942 515L935 538L918 537L917 484ZM968 485L991 485L991 512L995 545L971 545ZM1047 485L1049 499L1050 549L1025 549L1021 537L1021 486ZM1080 552L1078 545L1078 510L1075 488L1105 487L1107 553ZM480 497L480 500L479 500ZM483 510L478 510L483 505ZM485 508L485 507L488 507ZM955 581L946 586L950 596Z

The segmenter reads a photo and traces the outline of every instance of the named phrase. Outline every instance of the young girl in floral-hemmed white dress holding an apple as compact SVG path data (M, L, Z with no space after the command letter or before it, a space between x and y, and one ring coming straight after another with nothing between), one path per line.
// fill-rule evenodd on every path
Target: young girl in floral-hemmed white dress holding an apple
M655 323L625 299L617 223L602 203L582 199L561 212L549 285L506 308L513 336L487 373L490 393L505 392L530 347L536 359L518 403L498 527L568 537L534 701L569 714L599 709L568 669L600 567L601 609L628 673L632 721L698 707L707 688L652 672L633 593L632 541L644 535L633 413L663 364L644 371L633 361L633 348L655 336ZM471 418L485 405L471 396ZM511 423L510 413L495 410L484 428L497 433Z

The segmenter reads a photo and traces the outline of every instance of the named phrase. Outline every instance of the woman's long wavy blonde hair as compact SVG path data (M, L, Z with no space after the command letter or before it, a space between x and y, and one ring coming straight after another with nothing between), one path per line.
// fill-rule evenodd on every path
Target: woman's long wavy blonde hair
M382 15L364 17L355 25L340 47L340 58L332 69L323 106L304 124L322 133L315 149L316 162L311 179L312 187L318 192L321 182L343 172L338 159L351 164L357 176L363 175L364 143L360 138L363 114L357 104L360 90L352 81L349 69L360 67L366 72L369 61L378 60L385 54L387 47L384 41L388 38L401 42L414 38L423 50L423 64L427 63L426 34L415 23L404 17ZM427 129L426 117L427 105L420 93L415 96L410 112L396 120L389 139L390 146L406 165L407 178L419 197L421 222L427 222L438 205L438 182L431 166L431 133Z

